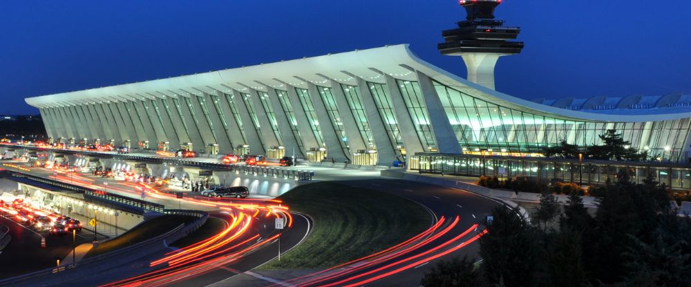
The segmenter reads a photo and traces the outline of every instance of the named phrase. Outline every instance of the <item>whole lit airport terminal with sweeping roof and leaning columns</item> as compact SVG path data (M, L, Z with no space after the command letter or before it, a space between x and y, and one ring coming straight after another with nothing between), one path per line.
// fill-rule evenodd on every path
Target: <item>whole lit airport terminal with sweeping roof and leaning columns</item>
M390 166L416 153L539 156L562 140L686 161L690 95L527 101L457 77L407 45L32 97L64 143Z

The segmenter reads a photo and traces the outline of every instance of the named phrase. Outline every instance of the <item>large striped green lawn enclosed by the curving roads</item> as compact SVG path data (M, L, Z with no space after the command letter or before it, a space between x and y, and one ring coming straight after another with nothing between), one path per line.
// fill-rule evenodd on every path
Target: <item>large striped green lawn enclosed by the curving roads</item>
M428 212L413 201L333 182L298 186L279 199L310 215L314 226L302 244L263 270L328 268L399 244L431 223Z

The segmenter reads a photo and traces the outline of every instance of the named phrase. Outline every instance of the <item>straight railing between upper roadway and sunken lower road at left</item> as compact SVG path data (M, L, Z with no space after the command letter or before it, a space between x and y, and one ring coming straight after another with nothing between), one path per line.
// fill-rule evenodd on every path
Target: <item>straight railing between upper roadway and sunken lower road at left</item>
M141 209L141 210L151 210L155 212L163 212L165 209L165 206L163 204L155 204L151 201L144 201L142 199L135 199L131 197L125 197L122 195L116 195L110 192L105 192L102 190L93 190L91 188L85 188L83 186L77 186L74 184L67 184L62 181L57 181L54 179L46 179L44 177L37 177L35 175L28 175L23 172L16 172L12 171L10 172L12 176L14 177L23 177L26 179L30 179L32 181L37 181L41 182L44 184L48 184L50 186L56 186L59 188L64 188L66 190L73 190L77 192L82 192L84 193L85 196L91 196L95 197L98 199L106 200L106 201L112 201L115 204L124 204L126 206L130 206L135 209Z

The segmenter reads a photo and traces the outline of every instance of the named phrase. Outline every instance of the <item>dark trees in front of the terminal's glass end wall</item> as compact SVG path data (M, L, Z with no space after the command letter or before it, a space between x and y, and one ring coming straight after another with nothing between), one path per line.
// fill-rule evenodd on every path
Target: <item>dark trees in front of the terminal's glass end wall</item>
M549 146L542 149L545 157L564 157L576 159L578 154L583 154L587 159L607 159L625 161L644 161L647 159L647 151L638 152L631 148L631 142L625 141L621 134L616 130L607 130L604 135L599 135L602 145L587 146L580 148L575 144L567 143L562 140L557 146Z

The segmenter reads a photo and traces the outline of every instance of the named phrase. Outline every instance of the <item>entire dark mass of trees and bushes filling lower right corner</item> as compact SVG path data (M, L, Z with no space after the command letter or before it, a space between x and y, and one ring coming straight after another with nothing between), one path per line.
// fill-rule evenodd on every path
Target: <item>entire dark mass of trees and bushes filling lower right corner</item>
M493 211L476 259L453 259L423 286L691 286L691 220L678 217L664 184L607 184L594 215L571 192L566 206L547 192L531 214Z

